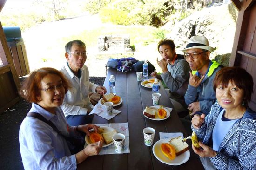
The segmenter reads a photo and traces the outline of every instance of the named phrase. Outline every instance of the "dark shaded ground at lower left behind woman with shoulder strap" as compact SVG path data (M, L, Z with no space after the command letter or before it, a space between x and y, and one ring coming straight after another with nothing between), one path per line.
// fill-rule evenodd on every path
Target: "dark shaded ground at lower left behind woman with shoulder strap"
M19 145L19 129L31 104L22 100L0 114L0 169L24 170Z

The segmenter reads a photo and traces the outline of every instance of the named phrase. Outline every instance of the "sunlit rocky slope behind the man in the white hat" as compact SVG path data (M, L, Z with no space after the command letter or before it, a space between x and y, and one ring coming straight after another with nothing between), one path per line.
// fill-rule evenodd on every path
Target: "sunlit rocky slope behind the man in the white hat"
M214 59L216 55L231 53L236 21L229 12L229 6L234 9L232 3L204 8L176 22L173 28L170 26L168 29L171 29L171 33L167 38L174 40L176 52L183 54L181 50L191 36L203 35L209 40L209 46L216 48L210 59Z

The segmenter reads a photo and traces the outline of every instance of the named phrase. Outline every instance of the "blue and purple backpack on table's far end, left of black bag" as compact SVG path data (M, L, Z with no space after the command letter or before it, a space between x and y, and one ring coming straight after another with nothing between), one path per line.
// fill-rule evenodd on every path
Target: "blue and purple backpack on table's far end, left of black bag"
M121 59L108 59L107 66L116 68L121 72L128 72L132 70L132 66L137 63L138 60L133 57L121 58Z

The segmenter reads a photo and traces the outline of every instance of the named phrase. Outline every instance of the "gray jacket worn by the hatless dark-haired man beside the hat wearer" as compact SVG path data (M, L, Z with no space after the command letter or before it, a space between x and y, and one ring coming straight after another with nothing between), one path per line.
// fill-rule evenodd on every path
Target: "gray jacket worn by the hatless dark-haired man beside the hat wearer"
M185 59L181 59L184 58L183 56L181 57L180 54L177 55L179 58L175 60L173 65L167 65L168 72L161 74L161 78L170 89L170 98L182 105L186 105L184 95L189 83L190 67Z

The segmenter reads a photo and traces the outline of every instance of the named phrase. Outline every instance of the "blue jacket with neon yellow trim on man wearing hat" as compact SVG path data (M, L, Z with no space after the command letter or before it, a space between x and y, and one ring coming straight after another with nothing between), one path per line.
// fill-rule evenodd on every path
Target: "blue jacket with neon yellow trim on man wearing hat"
M222 69L222 65L219 65L216 61L210 62L212 62L212 65L201 84L198 87L188 85L188 90L185 94L186 104L189 105L190 103L199 101L200 111L205 115L210 112L211 106L216 101L216 94L213 90L213 80L216 72ZM197 71L193 71L192 74L197 74Z

